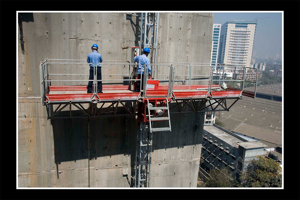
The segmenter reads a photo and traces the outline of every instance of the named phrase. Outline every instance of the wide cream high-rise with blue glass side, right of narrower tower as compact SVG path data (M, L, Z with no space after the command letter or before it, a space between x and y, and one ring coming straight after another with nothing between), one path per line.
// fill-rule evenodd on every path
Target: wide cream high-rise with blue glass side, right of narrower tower
M257 22L227 21L221 27L218 63L250 67Z

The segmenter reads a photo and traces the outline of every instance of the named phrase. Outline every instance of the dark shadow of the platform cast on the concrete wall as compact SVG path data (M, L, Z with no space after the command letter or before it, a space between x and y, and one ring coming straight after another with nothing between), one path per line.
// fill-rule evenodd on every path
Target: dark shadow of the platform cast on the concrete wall
M80 112L72 111L72 115L80 116ZM59 115L69 114L69 111L61 111ZM172 132L154 132L152 151L201 144L201 116L202 114L172 114ZM166 123L168 122L157 122L155 127L167 127ZM51 119L51 125L57 178L61 162L88 159L88 152L90 160L120 154L130 155L131 174L134 174L136 139L140 131L138 120L134 116ZM131 187L134 186L132 178L128 183Z

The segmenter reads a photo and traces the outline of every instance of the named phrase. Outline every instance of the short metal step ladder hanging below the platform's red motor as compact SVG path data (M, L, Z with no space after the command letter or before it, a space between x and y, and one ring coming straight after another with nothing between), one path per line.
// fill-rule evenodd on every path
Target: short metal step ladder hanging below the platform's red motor
M166 98L167 107L151 107L149 106L149 100L147 98L147 106L148 106L148 116L149 116L149 124L150 124L150 132L158 132L158 131L171 131L171 121L170 121L170 112L169 112L169 102L168 98ZM150 110L167 110L168 111L168 117L152 117L150 116ZM169 121L169 127L161 127L161 128L152 128L151 122L152 121Z

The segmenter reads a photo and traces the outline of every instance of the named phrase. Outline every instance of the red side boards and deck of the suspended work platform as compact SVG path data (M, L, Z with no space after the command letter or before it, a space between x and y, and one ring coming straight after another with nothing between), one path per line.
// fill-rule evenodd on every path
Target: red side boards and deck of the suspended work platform
M219 85L212 85L212 87L217 87ZM208 85L192 85L189 89L189 86L185 85L174 85L174 92L176 100L181 99L204 99L205 97L213 98L238 98L241 95L241 90L228 88L226 91L211 91L211 94L207 94L207 90L197 90L197 88L208 88ZM113 101L137 101L138 95L140 92L134 92L128 90L128 85L104 85L102 87L104 93L98 93L97 95L100 98L100 101L113 102ZM77 91L76 93L70 91ZM49 94L46 94L46 97L49 98L50 102L88 102L90 101L93 94L87 94L86 86L49 86ZM168 86L162 85L159 86L158 90L147 90L147 97L159 97L167 96ZM174 98L174 95L172 97ZM207 96L206 96L207 95ZM93 99L97 100L98 97L94 96ZM48 99L45 99L48 101Z

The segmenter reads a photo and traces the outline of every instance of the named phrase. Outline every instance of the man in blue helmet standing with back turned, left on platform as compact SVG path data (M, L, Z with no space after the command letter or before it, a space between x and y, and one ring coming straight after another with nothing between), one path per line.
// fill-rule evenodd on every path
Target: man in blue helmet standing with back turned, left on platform
M102 55L100 53L98 53L98 45L97 44L93 44L93 46L91 47L92 49L92 53L88 54L88 59L86 59L86 61L88 63L93 63L94 65L90 64L90 77L88 80L94 80L94 66L96 66L98 63L102 62ZM97 67L95 68L95 71L97 70L97 80L102 80L102 76L101 76L101 65L97 65ZM92 93L92 85L93 85L93 81L88 81L88 93ZM102 81L98 81L98 92L97 93L103 93L102 92Z

